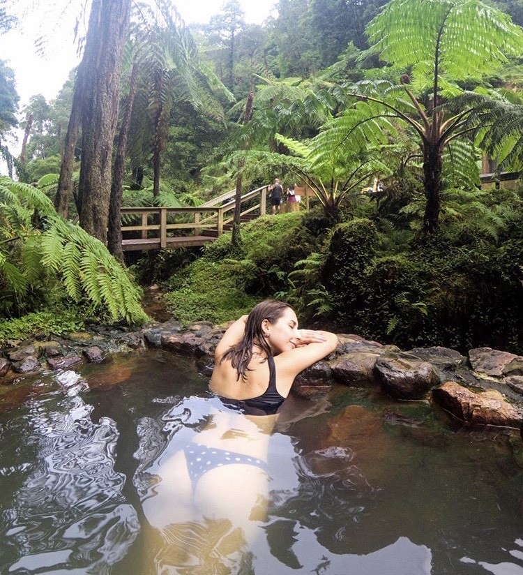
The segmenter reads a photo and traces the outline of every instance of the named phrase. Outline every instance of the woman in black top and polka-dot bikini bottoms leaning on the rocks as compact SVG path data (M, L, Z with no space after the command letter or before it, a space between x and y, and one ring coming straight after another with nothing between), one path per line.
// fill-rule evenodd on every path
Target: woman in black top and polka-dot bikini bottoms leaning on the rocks
M266 518L268 440L278 409L296 375L337 343L328 331L298 330L296 314L280 301L261 302L227 329L211 378L220 405L162 463L161 482L144 501L162 535L158 572L227 574L245 566L248 543Z

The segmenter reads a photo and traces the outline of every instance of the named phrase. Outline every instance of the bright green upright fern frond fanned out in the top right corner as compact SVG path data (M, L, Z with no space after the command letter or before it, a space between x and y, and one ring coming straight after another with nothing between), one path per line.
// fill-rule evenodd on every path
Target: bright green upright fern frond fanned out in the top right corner
M437 62L439 75L456 80L490 73L523 49L520 27L480 0L392 0L367 35L384 61L430 77Z

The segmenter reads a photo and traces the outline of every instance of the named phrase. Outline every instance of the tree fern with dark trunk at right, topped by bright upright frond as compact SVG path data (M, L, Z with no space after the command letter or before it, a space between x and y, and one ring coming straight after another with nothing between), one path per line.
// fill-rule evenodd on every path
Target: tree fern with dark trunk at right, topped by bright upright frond
M386 82L376 87L370 82L356 84L351 95L373 105L349 107L344 115L354 126L374 122L377 129L381 126L377 115L386 117L392 124L405 126L416 138L423 153L427 198L423 229L432 234L437 231L441 211L441 166L446 145L480 130L485 106L491 105L492 114L499 110L497 94L492 95L490 104L489 98L483 96L483 103L479 103L476 96L476 102L459 107L464 90L458 82L480 79L499 69L508 56L521 54L523 31L508 15L480 0L391 0L368 24L367 34L370 51L393 65L400 82L393 82L396 87ZM342 128L343 121L334 119L333 128ZM499 138L492 133L490 145L495 147L497 142ZM454 157L465 159L459 154ZM459 171L454 170L454 179ZM466 171L464 167L461 175Z

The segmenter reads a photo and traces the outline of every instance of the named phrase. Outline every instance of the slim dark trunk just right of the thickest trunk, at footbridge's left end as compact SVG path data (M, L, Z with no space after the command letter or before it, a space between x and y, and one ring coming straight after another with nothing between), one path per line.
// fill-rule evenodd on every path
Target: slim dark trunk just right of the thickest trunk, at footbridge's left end
M138 66L132 65L129 81L129 94L126 101L126 109L121 122L120 133L116 148L116 158L112 174L111 201L109 202L109 227L107 229L107 248L109 252L118 260L123 261L123 251L121 246L121 201L123 195L123 163L126 159L127 137L132 112L132 105L135 101L138 78Z

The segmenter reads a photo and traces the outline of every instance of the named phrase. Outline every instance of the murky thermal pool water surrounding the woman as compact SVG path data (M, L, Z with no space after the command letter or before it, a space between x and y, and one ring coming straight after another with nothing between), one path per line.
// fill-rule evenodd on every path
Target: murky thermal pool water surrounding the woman
M207 382L147 351L1 389L0 573L523 575L519 434L377 391L287 400L248 536L182 517L169 461L218 425Z

